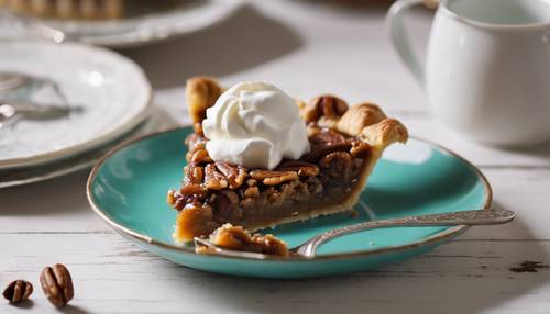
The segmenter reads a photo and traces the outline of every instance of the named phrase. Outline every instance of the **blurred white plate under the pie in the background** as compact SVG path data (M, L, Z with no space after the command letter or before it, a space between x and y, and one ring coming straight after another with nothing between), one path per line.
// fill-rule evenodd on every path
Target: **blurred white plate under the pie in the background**
M196 0L169 11L117 21L46 21L70 38L99 46L129 47L193 33L229 16L242 0ZM0 23L0 37L29 36L14 21Z

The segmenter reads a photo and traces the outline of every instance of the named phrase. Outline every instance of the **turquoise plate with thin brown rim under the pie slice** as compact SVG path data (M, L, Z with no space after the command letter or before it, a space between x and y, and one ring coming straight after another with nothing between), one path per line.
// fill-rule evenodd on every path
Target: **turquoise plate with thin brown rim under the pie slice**
M176 212L166 191L179 187L185 166L183 141L190 127L148 135L111 150L88 179L94 211L138 246L174 262L206 271L271 278L329 276L363 271L400 261L466 231L457 227L396 227L358 233L326 244L310 259L197 255L172 240ZM491 187L483 175L455 154L411 138L394 145L378 161L367 188L349 213L294 223L268 231L289 247L321 232L366 220L488 208Z

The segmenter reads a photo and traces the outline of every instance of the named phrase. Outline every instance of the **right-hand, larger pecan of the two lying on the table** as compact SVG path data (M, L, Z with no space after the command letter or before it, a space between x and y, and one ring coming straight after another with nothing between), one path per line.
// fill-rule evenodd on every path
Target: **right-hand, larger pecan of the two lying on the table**
M40 276L40 283L47 300L57 307L65 306L75 295L70 273L62 263L45 267Z

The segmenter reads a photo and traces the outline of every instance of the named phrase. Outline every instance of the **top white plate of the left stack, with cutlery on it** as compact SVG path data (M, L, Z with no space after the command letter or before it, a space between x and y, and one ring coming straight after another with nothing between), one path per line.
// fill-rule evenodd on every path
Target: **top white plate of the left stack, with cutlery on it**
M147 115L151 85L136 64L117 53L80 44L14 41L1 45L0 72L47 78L81 110L53 120L22 119L1 128L0 169L52 162L96 148Z

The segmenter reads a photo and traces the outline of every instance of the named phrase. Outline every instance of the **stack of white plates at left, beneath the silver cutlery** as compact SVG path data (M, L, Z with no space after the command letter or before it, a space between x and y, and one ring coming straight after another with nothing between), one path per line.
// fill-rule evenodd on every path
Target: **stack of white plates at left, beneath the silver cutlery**
M89 167L117 143L156 127L154 120L146 120L151 85L132 60L81 44L1 45L0 74L32 78L1 98L65 102L75 110L55 119L23 115L0 128L0 188Z

